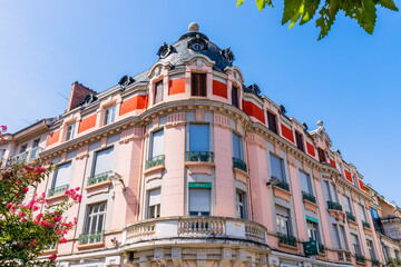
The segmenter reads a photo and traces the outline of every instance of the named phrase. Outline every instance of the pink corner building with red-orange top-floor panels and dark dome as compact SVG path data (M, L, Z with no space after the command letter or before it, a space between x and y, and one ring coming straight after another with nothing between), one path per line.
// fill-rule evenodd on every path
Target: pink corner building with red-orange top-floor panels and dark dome
M229 48L198 32L163 43L148 70L7 136L1 157L59 168L29 191L82 202L63 267L380 266L362 175L320 121L285 115L245 86Z

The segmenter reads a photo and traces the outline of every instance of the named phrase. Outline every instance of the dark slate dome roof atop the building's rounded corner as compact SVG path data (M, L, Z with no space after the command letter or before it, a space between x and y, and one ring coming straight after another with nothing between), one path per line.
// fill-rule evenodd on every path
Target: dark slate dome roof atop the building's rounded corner
M207 42L207 49L202 51L194 51L188 48L188 41L196 38L196 34L199 36L200 39ZM211 42L208 38L200 32L187 32L183 34L179 40L172 44L174 47L173 52L166 58L162 58L158 62L169 62L173 68L177 66L183 66L184 60L187 60L195 53L200 53L208 57L211 60L215 61L215 66L213 67L215 70L224 71L226 67L231 67L229 63L223 56L222 49L217 47L215 43Z

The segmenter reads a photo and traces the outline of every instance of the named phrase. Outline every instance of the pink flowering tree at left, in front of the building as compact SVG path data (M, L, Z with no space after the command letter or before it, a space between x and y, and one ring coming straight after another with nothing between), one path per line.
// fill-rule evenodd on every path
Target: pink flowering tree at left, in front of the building
M1 142L7 128L0 128ZM45 260L38 257L50 246L67 241L65 235L77 219L65 214L80 202L81 196L79 188L67 190L66 198L51 209L45 192L28 199L29 188L36 188L53 169L40 167L40 162L0 162L0 266L55 266L57 255Z

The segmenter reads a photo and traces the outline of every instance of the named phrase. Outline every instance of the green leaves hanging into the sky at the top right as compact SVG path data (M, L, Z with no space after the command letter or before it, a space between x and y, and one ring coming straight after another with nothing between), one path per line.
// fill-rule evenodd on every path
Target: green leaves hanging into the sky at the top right
M244 0L237 0L237 7ZM263 10L266 4L273 7L272 0L256 0L258 10ZM368 33L372 34L376 20L376 6L398 11L393 0L284 0L284 12L282 24L290 22L292 28L296 22L304 24L311 21L317 9L319 17L316 27L320 28L319 39L327 36L335 21L339 11L344 11L345 16L355 20L359 26Z

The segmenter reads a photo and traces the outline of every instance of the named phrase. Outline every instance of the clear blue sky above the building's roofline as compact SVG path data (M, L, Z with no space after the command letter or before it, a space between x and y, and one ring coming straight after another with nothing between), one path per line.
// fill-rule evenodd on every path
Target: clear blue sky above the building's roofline
M379 8L373 36L338 16L316 41L314 21L281 26L282 0L0 0L0 125L14 132L61 115L76 80L102 91L151 67L192 21L231 47L245 77L315 129L323 120L364 182L401 205L401 13ZM401 8L400 1L397 1Z

